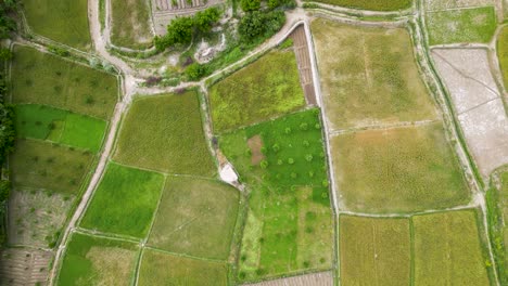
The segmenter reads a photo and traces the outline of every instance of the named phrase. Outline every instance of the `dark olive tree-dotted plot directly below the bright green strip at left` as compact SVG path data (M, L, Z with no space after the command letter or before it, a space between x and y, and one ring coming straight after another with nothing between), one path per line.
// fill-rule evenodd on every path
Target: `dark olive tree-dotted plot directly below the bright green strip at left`
M93 160L90 152L30 139L17 140L15 150L9 167L16 188L77 194Z

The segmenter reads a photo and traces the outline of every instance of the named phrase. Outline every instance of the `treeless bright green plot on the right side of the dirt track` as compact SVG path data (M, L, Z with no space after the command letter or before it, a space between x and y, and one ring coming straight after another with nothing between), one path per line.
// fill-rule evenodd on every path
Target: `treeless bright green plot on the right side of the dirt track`
M164 177L160 173L110 162L80 225L143 238L163 184Z

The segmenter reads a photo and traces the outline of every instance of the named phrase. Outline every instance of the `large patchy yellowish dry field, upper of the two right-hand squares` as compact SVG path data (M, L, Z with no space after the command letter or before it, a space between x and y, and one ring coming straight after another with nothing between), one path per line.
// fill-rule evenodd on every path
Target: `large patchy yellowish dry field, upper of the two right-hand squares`
M331 129L436 118L407 30L323 18L312 30Z

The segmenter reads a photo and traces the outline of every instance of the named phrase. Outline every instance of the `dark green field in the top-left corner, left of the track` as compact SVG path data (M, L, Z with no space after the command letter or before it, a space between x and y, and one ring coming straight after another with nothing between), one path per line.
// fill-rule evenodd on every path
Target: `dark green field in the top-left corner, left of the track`
M88 1L25 0L23 11L35 34L79 50L90 49Z

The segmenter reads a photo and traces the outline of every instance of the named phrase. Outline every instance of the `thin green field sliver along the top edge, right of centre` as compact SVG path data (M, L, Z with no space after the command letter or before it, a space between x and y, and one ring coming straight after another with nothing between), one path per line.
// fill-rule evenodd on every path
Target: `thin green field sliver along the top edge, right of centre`
M372 11L396 11L409 9L412 0L315 0L326 4L340 5L345 8L372 10Z

